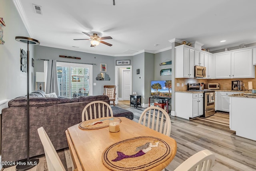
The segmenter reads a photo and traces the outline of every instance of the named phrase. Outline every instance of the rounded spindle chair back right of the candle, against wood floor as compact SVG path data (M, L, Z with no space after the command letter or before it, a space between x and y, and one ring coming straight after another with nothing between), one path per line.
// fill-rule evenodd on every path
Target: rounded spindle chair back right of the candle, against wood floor
M146 108L140 115L139 123L166 136L171 134L171 119L168 113L157 106Z

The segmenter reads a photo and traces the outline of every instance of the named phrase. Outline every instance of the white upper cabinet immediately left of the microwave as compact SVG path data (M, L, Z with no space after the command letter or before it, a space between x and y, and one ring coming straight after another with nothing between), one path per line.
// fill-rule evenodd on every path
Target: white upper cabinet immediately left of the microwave
M194 78L194 49L175 47L175 78Z

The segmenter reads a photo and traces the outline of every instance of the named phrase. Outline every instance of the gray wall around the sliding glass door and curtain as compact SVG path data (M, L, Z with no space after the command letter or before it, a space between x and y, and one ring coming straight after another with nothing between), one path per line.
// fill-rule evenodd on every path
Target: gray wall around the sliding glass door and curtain
M103 94L104 85L115 85L115 60L112 56L97 55L92 53L84 53L78 51L70 51L66 49L58 49L53 47L45 46L36 46L35 47L36 58L35 58L35 72L43 72L44 62L40 59L49 59L48 62L48 75L47 75L47 85L46 93L49 93L50 88L50 77L51 77L51 68L52 68L52 59L63 62L74 62L74 63L96 63L97 65L92 65L93 68L93 83L96 85L93 86L92 95ZM81 59L69 59L59 57L59 55L80 57ZM100 73L100 63L107 64L107 74L110 77L110 81L99 81L96 80L97 75Z

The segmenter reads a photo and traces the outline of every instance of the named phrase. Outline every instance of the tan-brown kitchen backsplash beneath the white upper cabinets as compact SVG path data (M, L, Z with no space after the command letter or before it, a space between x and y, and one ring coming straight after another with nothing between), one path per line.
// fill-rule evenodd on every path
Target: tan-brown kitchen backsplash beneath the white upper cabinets
M248 82L252 81L252 88L256 89L256 78L255 79L175 79L175 91L187 90L188 83L219 83L220 90L231 90L231 81L240 80L243 81L244 87L248 90ZM177 86L180 83L180 86ZM182 86L183 83L183 86ZM244 88L243 88L244 90Z

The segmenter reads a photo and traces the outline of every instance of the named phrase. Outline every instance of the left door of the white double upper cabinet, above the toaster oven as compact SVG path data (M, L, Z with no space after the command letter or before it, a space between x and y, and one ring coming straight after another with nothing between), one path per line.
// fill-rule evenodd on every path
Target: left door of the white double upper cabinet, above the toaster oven
M215 55L215 78L231 78L231 52Z

